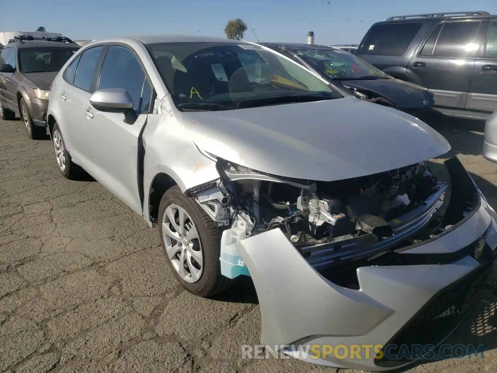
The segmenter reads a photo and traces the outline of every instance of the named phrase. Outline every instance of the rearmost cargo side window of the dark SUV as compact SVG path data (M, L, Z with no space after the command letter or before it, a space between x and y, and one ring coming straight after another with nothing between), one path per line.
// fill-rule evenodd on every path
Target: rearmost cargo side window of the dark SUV
M374 25L358 54L402 56L420 28L420 22Z

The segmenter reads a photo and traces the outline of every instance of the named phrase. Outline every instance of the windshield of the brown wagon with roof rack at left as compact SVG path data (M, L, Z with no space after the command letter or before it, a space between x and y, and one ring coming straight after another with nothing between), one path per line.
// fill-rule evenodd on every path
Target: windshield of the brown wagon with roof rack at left
M21 73L60 71L79 48L21 48L19 70Z

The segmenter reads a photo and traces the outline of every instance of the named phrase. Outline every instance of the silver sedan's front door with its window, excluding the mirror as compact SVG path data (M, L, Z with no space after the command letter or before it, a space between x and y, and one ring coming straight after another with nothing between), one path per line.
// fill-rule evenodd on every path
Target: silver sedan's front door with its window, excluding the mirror
M89 99L88 155L91 174L140 215L138 191L138 137L151 109L152 86L139 59L125 46L111 45L103 61L98 90L123 88L134 102L133 110L106 112L95 109Z

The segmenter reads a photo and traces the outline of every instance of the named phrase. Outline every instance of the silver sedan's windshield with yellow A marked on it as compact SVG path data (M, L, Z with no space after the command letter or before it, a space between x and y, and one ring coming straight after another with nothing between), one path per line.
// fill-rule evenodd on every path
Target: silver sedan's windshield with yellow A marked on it
M226 110L342 97L296 63L257 45L149 44L180 109Z

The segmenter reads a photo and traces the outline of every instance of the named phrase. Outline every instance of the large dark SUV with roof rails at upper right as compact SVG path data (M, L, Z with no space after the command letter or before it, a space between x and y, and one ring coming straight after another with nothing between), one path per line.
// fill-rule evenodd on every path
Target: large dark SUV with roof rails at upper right
M485 11L399 15L377 22L357 56L428 88L446 115L487 119L497 110L497 15Z

